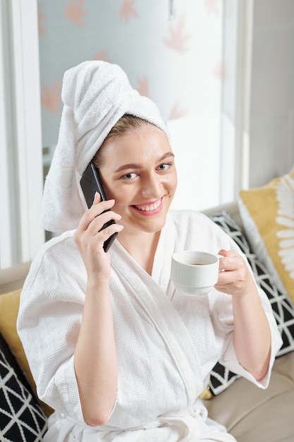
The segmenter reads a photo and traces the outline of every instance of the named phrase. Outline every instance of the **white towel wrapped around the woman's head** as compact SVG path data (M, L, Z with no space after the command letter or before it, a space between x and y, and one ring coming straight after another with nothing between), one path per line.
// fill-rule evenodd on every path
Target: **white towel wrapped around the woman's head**
M78 227L85 212L80 177L124 114L145 119L167 134L157 106L130 86L124 71L105 61L85 61L63 76L59 141L47 175L40 225L50 232Z

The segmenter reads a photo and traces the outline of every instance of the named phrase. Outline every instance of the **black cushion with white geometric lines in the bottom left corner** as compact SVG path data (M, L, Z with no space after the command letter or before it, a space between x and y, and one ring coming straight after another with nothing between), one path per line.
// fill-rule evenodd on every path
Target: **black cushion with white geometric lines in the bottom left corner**
M0 349L0 441L39 442L47 417Z

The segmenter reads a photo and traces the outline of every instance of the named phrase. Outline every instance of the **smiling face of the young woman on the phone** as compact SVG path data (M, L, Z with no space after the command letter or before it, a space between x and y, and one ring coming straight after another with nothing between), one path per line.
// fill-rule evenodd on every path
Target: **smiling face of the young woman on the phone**
M124 234L159 232L176 191L173 153L163 131L145 124L104 146L100 174Z

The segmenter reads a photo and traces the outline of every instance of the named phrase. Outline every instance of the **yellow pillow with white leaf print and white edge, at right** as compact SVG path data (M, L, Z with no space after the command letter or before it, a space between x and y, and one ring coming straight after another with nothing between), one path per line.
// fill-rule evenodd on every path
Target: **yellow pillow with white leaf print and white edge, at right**
M294 168L265 186L240 191L239 196L253 251L294 302Z

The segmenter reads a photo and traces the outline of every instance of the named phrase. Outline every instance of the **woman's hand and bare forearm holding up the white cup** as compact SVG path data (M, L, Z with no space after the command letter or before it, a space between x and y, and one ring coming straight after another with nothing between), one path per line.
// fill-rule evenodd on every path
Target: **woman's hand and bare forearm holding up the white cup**
M257 285L243 257L220 250L219 292L231 294L234 317L233 342L240 364L258 381L269 368L271 333L259 299Z

